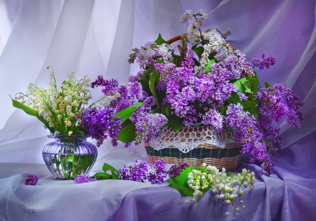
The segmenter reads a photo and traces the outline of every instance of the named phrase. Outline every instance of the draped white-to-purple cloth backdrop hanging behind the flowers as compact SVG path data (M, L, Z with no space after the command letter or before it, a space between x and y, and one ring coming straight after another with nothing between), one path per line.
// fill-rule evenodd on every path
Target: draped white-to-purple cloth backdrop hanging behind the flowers
M284 162L299 158L287 171L304 170L305 157L315 153L308 136L316 128L315 8L315 0L0 0L0 163L43 163L41 149L51 141L46 138L48 130L12 107L9 95L14 98L27 91L30 82L46 87L46 66L53 66L58 85L70 72L77 79L88 74L94 81L103 75L126 85L138 72L136 64L127 62L131 48L154 41L159 33L171 39L186 32L180 16L187 9L203 9L209 18L202 29L231 28L227 40L249 62L261 53L277 59L274 67L258 73L261 83L286 83L305 102L300 130L287 126L284 119L279 123L284 147L291 149L284 149L289 154L282 155ZM97 100L102 93L96 88L92 95ZM124 149L122 144L112 147L108 140L98 152L95 171L105 161L121 167L126 160L146 157L142 145ZM274 160L275 172L287 165L280 162ZM305 172L315 174L315 169Z

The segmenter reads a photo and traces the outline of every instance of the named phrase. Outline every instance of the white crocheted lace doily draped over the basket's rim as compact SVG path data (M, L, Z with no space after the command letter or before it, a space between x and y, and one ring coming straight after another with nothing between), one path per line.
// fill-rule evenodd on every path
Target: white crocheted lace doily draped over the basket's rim
M150 141L150 147L159 150L168 147L176 147L181 152L187 153L191 149L203 144L209 144L224 148L225 145L237 142L230 131L220 132L211 126L196 126L181 128L173 131L171 128L163 128L162 135Z

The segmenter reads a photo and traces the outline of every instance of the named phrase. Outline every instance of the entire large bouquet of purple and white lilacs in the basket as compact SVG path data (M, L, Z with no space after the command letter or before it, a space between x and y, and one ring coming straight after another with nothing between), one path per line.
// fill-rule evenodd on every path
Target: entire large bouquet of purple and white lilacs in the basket
M286 121L300 128L303 119L300 97L283 83L264 86L258 81L256 69L275 65L272 56L261 55L251 63L245 55L226 41L231 30L220 32L207 28L202 22L207 14L186 11L182 23L189 22L187 33L178 36L176 48L159 34L156 41L133 48L129 62L137 62L140 71L131 76L129 86L119 86L115 79L103 76L92 87L103 87L105 97L100 107L82 114L82 125L101 145L110 135L117 140L136 145L157 138L161 128L211 126L213 130L231 131L242 143L242 154L250 153L251 162L261 162L268 175L272 173L270 154L277 156L282 149L279 122ZM104 133L105 116L121 117L117 133ZM104 122L103 122L104 121Z

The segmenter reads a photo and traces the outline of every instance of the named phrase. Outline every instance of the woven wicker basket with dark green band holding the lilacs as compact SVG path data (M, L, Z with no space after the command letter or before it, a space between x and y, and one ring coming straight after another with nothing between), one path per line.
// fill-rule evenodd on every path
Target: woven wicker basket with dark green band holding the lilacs
M201 130L201 128L203 127L194 128L194 131L188 128L181 128L178 131L174 131L173 134L164 133L162 138L163 140L168 140L169 136L171 136L170 139L178 139L179 142L197 142L197 140L201 139L208 140L208 137L205 137L205 131ZM195 133L194 136L192 136L193 132ZM181 138L184 136L186 139ZM241 157L240 151L242 149L242 145L237 142L228 143L223 149L205 143L198 145L187 153L181 152L180 149L174 146L156 150L150 145L150 143L145 144L145 149L148 158L150 159L150 163L154 163L154 161L160 159L164 159L166 163L186 162L193 166L199 166L200 163L206 163L211 166L216 166L220 170L223 167L226 170L235 170L239 164L239 159Z

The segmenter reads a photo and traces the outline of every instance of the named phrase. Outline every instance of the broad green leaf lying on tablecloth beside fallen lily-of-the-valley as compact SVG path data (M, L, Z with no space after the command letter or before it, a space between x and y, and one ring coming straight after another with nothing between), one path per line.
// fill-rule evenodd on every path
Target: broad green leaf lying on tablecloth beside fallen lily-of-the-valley
M187 174L192 171L192 167L185 168L176 178L170 178L170 184L186 196L193 196L193 190L187 185Z

